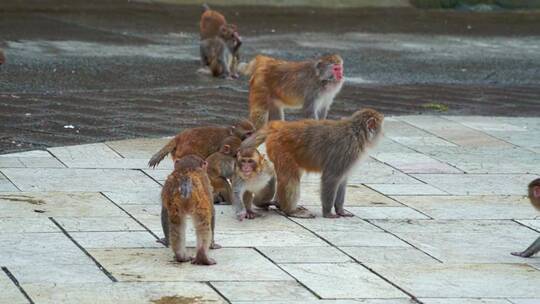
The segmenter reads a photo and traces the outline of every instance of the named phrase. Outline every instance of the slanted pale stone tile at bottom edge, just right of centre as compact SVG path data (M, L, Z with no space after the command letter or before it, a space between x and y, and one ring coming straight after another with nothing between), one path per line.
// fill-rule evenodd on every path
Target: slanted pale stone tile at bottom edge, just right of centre
M356 263L283 264L281 267L322 298L406 297L401 291Z

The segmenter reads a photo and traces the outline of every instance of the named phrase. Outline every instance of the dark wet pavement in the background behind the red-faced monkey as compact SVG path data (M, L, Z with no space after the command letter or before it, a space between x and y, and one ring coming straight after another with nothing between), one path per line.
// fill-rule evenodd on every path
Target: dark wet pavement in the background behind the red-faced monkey
M540 12L221 10L240 27L244 60L340 53L347 82L333 118L364 106L540 115ZM245 78L195 72L199 15L198 6L123 1L0 8L0 151L173 135L245 116Z

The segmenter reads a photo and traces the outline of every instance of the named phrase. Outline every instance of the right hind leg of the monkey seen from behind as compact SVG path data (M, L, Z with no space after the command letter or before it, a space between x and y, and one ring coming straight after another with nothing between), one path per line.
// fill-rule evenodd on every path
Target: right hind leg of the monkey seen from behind
M208 257L208 249L212 243L212 227L211 215L195 213L193 216L193 224L195 225L195 233L197 234L197 254L192 264L197 265L214 265L216 261Z

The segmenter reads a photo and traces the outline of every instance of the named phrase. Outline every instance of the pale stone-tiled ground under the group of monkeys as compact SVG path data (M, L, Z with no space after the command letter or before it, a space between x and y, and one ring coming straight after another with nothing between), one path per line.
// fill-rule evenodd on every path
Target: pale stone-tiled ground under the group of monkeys
M217 206L211 267L156 243L165 139L0 156L0 303L540 303L540 257L510 255L540 231L524 198L540 176L540 119L393 116L350 178L353 218L301 204L237 222ZM194 234L189 229L189 243Z

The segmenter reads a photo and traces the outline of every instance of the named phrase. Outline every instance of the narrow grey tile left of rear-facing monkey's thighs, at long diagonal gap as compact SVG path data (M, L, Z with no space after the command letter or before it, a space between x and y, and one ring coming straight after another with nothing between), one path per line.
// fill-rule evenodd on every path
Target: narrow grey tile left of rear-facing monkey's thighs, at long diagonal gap
M68 232L144 230L144 227L127 215L122 217L55 217L54 219Z

